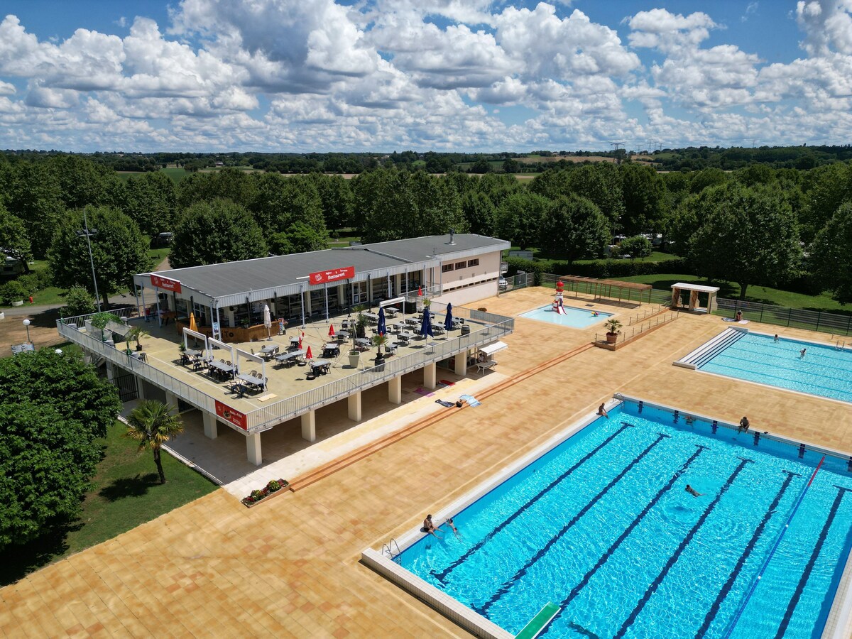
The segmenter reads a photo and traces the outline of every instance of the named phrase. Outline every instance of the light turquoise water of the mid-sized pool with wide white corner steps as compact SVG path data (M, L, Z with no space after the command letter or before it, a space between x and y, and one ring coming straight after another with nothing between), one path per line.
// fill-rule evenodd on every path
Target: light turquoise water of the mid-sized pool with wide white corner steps
M808 352L801 356L803 348ZM699 370L852 402L852 350L745 333Z

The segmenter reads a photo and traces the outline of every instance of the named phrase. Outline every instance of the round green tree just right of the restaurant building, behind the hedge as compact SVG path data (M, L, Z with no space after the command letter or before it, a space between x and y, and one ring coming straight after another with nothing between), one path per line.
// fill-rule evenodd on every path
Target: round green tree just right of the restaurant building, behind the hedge
M539 246L548 255L570 262L598 257L610 238L609 224L597 205L577 195L562 196L544 211Z

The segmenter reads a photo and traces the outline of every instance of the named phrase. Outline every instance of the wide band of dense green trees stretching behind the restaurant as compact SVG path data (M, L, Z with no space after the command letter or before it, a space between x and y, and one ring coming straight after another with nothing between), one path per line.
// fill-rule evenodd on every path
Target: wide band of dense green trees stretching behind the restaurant
M0 157L0 246L47 258L57 285L91 290L83 210L101 294L153 268L143 236L173 233L175 268L325 248L351 229L363 242L481 233L545 256L631 255L658 238L696 273L740 284L806 280L852 298L852 164L811 170L658 173L636 163L575 164L530 181L488 173L434 176L395 166L351 180L223 169L179 183L162 172L126 181L80 156ZM626 244L625 244L626 242ZM619 250L617 247L616 250Z

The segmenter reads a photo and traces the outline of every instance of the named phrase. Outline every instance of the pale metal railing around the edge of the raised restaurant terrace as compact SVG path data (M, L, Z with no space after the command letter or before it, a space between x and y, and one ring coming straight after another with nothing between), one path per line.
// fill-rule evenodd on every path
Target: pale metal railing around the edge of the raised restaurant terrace
M441 306L433 303L433 311ZM343 399L343 397L357 391L370 389L393 377L416 371L432 362L445 360L452 355L466 351L468 348L477 348L492 343L509 334L515 328L515 320L512 318L474 308L453 308L452 314L454 317L464 320L464 326L469 327L468 334L446 339L427 337L415 342L415 344L422 344L422 348L413 353L394 355L383 360L383 363L379 366L373 365L359 371L353 371L347 377L316 386L304 393L293 395L269 406L262 406L246 412L248 431L256 433L270 429L277 423ZM124 350L114 348L110 343L103 343L98 335L89 335L81 331L81 328L85 325L85 320L90 318L91 314L58 320L56 327L62 337L80 344L86 350L100 355L113 364L130 369L138 377L176 394L193 406L207 412L216 412L216 398L213 396L171 377L168 373L160 371L147 362L137 360L135 357L126 354ZM369 357L369 354L371 354L371 351L367 351L364 356Z

